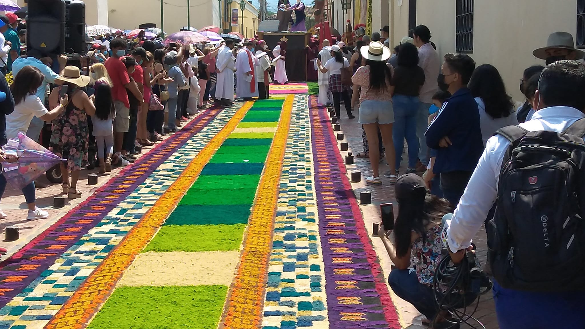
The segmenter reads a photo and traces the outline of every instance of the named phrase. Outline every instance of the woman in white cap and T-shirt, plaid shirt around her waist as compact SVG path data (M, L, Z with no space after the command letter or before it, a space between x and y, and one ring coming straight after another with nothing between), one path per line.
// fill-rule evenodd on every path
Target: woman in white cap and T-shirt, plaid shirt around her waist
M342 84L341 81L341 70L347 70L349 73L349 61L343 57L343 53L339 49L337 44L331 46L331 57L325 63L325 66L321 65L321 60L317 60L317 65L321 73L329 72L329 92L333 94L333 107L335 107L335 114L338 118L341 115L341 100L345 103L345 110L347 111L347 117L350 119L355 118L352 115L352 100L349 98L349 85Z

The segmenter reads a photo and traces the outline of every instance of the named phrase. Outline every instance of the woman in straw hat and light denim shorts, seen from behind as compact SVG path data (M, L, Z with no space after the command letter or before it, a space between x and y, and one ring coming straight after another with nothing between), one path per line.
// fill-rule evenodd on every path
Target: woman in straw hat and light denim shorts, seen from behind
M367 177L369 184L380 185L379 166L380 150L378 149L378 128L382 135L382 143L386 148L386 159L390 165L390 183L398 179L395 167L394 143L392 140L392 126L394 111L392 108L392 92L390 81L392 71L387 64L390 58L390 49L379 41L370 42L369 46L360 49L363 56L363 66L358 68L352 81L355 88L360 90L359 123L366 131L366 138L370 146L370 163L372 176ZM352 97L352 104L357 103L357 94Z

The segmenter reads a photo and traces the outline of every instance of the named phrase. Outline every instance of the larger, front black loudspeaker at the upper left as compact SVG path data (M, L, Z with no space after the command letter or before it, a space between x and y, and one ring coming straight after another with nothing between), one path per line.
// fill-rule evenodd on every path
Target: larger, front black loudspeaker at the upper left
M56 56L65 52L65 1L29 0L27 52L29 56Z

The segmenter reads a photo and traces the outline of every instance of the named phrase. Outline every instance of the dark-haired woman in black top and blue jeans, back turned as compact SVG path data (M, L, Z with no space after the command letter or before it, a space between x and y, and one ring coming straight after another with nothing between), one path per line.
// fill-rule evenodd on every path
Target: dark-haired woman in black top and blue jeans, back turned
M407 173L417 172L419 140L417 137L417 117L420 100L418 95L425 83L425 71L418 66L418 50L412 43L403 43L398 52L398 65L394 69L392 85L394 102L394 148L395 165L400 168L404 139L408 143ZM384 176L390 177L391 173Z

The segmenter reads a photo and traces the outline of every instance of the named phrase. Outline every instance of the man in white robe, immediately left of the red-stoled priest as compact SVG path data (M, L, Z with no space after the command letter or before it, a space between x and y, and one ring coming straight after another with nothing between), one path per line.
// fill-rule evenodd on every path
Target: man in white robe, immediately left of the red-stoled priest
M236 68L236 60L233 57L232 39L225 40L225 46L219 50L217 67L217 84L215 87L215 99L221 100L224 107L233 105L233 70Z

